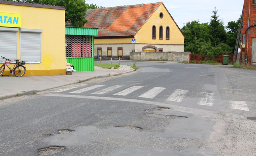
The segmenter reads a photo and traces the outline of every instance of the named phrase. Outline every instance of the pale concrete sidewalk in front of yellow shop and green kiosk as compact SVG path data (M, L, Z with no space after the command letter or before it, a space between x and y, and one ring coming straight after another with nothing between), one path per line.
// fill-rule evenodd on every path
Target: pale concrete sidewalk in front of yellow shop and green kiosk
M133 70L130 66L120 65L118 69L103 69L95 66L94 71L73 72L72 75L23 76L18 78L10 73L9 76L0 76L0 100L15 97L16 94L19 96L29 95L33 94L34 91L40 92L80 83L95 77L116 76Z

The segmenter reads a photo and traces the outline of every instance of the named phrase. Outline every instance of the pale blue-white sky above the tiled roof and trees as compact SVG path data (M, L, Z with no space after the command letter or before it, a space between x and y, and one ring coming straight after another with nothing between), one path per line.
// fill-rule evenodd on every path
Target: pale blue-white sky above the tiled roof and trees
M180 28L187 22L198 20L200 23L210 23L214 7L217 16L224 22L237 21L242 14L244 0L86 0L87 4L96 4L102 7L114 7L135 4L163 2L175 22Z

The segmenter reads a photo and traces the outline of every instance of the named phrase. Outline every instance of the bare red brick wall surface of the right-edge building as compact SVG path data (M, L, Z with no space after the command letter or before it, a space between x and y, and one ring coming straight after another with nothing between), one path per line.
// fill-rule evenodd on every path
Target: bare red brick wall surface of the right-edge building
M248 26L249 8L250 8L250 22ZM249 32L249 35L248 35L248 32ZM243 40L244 33L246 33L245 48L242 48L242 46L240 47L241 53L242 53L242 61L246 62L246 58L248 57L247 63L251 63L252 38L256 37L256 4L254 4L254 0L244 0L244 21L243 21L243 28L241 30L241 41ZM247 43L247 40L248 40L248 43Z

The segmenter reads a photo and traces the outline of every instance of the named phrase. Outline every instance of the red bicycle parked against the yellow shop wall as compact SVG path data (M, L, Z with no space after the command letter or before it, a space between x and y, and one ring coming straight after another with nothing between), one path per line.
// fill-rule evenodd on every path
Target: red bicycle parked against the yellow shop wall
M20 60L14 60L16 61L15 63L12 63L12 60L9 60L7 58L4 58L3 56L1 56L3 59L5 59L5 62L4 64L0 67L0 76L3 74L4 72L4 69L5 69L5 66L7 66L10 70L10 73L12 73L12 76L13 74L17 77L22 77L25 72L26 72L26 67L24 67L23 65L26 64L25 61L21 61ZM7 62L7 60L9 62ZM13 68L10 68L6 63L9 63L9 64L14 64Z

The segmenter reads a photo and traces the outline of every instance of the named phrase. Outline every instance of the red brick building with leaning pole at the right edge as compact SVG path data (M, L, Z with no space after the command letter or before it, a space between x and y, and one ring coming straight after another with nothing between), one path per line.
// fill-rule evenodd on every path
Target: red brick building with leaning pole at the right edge
M256 65L256 0L244 0L240 61Z

